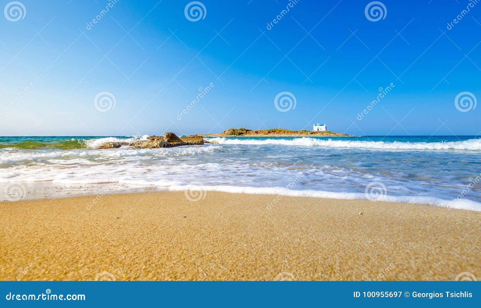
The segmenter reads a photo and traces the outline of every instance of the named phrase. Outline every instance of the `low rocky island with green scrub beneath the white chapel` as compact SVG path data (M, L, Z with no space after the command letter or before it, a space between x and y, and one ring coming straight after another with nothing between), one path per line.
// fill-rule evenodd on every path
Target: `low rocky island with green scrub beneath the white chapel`
M230 128L220 134L205 134L199 135L204 137L322 137L322 136L333 136L333 137L353 137L353 135L347 135L342 133L333 133L327 130L325 131L308 131L300 130L293 131L290 129L283 128L272 128L272 129L258 129L252 130L247 128Z

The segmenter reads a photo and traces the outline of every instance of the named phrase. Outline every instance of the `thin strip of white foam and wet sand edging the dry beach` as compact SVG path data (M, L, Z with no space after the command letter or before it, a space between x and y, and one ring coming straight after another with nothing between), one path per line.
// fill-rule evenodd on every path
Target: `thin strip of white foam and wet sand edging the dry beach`
M4 187L11 182L0 182L0 191L7 189ZM48 185L46 185L48 183ZM13 185L17 183L12 182ZM21 202L35 200L52 200L72 197L96 197L105 195L124 195L137 193L155 193L155 192L184 192L189 189L190 185L174 185L170 187L156 185L135 185L126 183L83 183L83 184L61 184L52 183L51 181L42 182L22 182L25 189L25 196L20 200L0 200L1 202ZM67 188L68 187L68 188ZM75 187L75 188L74 188ZM220 192L227 194L247 194L247 195L273 195L280 197L310 197L315 199L333 199L339 202L343 200L359 200L368 202L393 202L405 203L411 205L441 207L446 209L461 209L481 212L481 204L472 202L468 199L447 200L438 197L416 197L416 196L392 196L389 193L381 195L380 199L376 199L372 192L330 192L321 190L294 190L286 187L253 187L253 186L226 186L226 185L193 185L191 187L195 193ZM12 188L10 188L12 189ZM32 195L30 195L33 193ZM374 197L370 200L369 197Z

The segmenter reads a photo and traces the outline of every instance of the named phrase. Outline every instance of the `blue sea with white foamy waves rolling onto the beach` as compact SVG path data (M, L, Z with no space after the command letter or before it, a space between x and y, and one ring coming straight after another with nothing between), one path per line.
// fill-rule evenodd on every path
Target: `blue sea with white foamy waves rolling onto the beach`
M0 137L0 199L184 190L481 210L478 136L206 137L203 146L96 149L147 137Z

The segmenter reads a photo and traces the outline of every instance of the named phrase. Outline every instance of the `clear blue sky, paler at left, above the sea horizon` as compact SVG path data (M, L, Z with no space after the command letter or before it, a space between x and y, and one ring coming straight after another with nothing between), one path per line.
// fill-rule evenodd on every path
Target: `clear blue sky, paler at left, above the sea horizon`
M481 131L476 1L0 2L4 136Z

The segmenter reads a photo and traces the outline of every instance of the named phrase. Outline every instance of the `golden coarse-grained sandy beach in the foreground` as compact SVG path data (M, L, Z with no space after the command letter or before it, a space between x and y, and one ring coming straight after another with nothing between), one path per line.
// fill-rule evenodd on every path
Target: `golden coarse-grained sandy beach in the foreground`
M481 277L481 212L210 191L105 195L87 209L94 198L0 203L0 279Z

